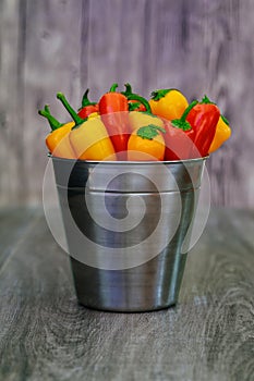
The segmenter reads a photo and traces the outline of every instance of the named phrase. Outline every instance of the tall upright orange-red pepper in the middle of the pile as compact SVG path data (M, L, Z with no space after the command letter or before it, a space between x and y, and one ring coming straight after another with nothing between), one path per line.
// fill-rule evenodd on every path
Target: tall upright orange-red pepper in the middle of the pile
M128 149L130 137L129 105L121 93L117 93L118 84L113 84L99 100L99 113L111 138L116 152Z

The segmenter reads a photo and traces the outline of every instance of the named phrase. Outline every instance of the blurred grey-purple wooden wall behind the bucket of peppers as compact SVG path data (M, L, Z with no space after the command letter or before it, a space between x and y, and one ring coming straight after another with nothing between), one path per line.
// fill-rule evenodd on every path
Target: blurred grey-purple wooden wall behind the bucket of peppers
M254 1L0 0L0 205L41 202L50 103L74 107L111 83L148 96L177 87L207 94L232 138L210 157L213 204L254 207Z

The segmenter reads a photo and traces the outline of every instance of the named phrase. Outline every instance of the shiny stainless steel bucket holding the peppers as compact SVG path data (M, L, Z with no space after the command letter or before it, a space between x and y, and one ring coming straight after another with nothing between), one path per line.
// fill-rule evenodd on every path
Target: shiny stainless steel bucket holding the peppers
M205 159L52 161L78 302L111 311L174 305Z

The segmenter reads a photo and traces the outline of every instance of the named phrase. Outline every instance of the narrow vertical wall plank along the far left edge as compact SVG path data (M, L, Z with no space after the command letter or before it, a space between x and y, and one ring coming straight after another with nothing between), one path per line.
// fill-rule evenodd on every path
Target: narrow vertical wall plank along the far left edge
M17 101L19 2L1 1L0 12L0 204L19 192L17 150L21 131ZM15 139L14 139L14 134ZM22 159L22 158L21 158ZM22 160L20 161L20 163ZM17 197L20 200L20 197Z

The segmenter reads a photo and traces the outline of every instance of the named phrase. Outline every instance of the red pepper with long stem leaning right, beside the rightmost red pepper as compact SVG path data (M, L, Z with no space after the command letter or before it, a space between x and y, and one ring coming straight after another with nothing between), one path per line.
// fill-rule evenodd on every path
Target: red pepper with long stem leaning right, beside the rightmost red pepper
M165 120L165 160L185 160L193 157L195 132L191 124L186 122L185 118L195 105L197 105L197 100L194 100L186 108L181 119L174 119L171 122Z

